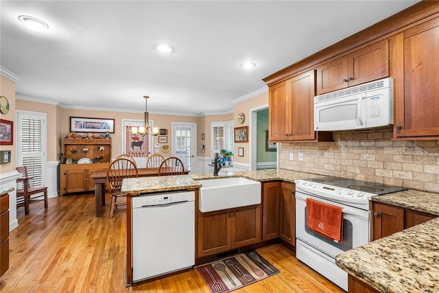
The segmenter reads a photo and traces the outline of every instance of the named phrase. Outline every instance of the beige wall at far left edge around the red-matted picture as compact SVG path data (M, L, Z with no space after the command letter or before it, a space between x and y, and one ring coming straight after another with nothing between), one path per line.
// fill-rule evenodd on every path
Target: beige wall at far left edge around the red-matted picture
M13 145L0 145L0 150L10 150L11 151L11 163L6 163L0 165L0 173L12 172L15 171L15 145L16 145L16 123L15 123L15 82L12 80L5 78L3 75L0 75L0 95L3 95L8 98L9 101L9 113L1 114L0 118L9 120L14 122L14 137L13 137Z

